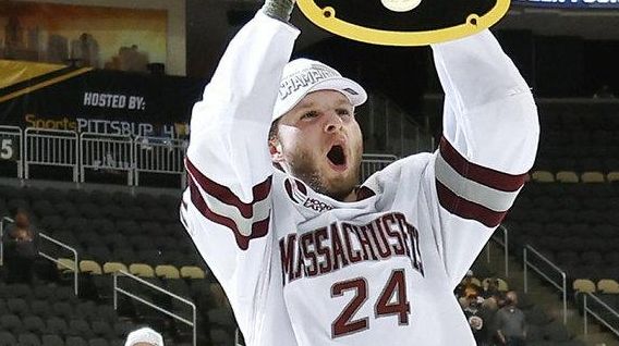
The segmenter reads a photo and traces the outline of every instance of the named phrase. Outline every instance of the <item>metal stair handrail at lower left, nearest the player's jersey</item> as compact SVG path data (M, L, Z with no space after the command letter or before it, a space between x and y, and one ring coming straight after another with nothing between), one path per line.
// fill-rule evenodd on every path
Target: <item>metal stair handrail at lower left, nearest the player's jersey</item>
M162 293L162 294L165 294L165 295L170 296L170 297L173 298L173 299L177 299L177 300L179 300L179 301L181 301L181 302L183 302L183 304L190 306L190 307L192 308L192 320L190 321L190 320L187 320L187 319L185 319L185 318L183 318L183 317L180 317L180 316L175 314L174 312L169 311L169 310L167 310L167 309L165 309L165 308L158 306L157 304L155 304L155 302L153 302L153 301L148 301L148 300L146 300L146 299L144 299L144 298L137 296L137 295L134 294L134 293L131 293L131 292L129 292L129 291L126 291L126 289L124 289L124 288L119 287L119 280L118 280L118 279L119 279L119 275L122 275L123 277L128 277L128 279L134 280L134 281L136 281L136 282L139 283L139 284L143 284L143 285L145 285L145 286L148 286L148 287L150 287L150 288L153 288L153 289L155 289L155 291L158 291L158 292L160 292L160 293ZM187 299L185 299L185 298L183 298L183 297L181 297L181 296L178 296L178 295L175 295L175 294L173 294L173 293L171 293L171 292L169 292L169 291L167 291L167 289L163 289L163 288L161 288L161 287L159 287L159 286L157 286L157 285L154 285L154 284L147 282L146 280L143 280L143 279L138 277L138 276L135 276L135 275L133 275L133 274L131 274L131 273L128 273L128 272L124 271L124 270L119 270L119 271L113 272L112 279L113 279L113 306L114 306L114 310L118 310L118 306L119 306L118 294L120 293L120 294L122 294L122 295L125 295L125 296L128 296L128 297L130 297L130 298L132 298L132 299L135 299L135 300L137 300L137 301L139 301L139 302L142 302L142 304L144 304L144 305L146 305L146 306L148 306L148 307L150 307L150 308L153 308L153 309L159 311L159 312L162 312L162 313L165 313L165 314L167 314L167 316L169 316L169 317L171 317L171 318L173 318L173 319L175 319L175 320L178 320L178 321L181 321L182 323L184 323L184 324L191 326L191 328L193 329L193 331L192 331L192 333L193 333L193 335L192 335L192 337L193 337L193 345L194 345L194 346L197 345L197 330L196 330L196 329L197 329L197 323L196 323L196 321L197 321L197 320L196 320L197 313L196 313L195 304L194 304L193 301L190 301L190 300L187 300Z

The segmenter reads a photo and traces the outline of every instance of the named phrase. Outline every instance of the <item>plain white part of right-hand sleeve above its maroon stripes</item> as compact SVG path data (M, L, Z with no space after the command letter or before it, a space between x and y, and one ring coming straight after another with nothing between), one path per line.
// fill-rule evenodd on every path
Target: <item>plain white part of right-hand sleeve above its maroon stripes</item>
M529 171L539 126L526 82L489 30L433 46L446 94L444 137L470 161L509 174Z

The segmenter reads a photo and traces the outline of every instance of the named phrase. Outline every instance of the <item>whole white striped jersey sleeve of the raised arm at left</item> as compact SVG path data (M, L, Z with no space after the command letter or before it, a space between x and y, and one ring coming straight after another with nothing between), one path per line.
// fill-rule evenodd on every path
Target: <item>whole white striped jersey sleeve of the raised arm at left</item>
M192 112L181 221L251 339L268 287L274 169L267 137L299 30L258 12L232 39Z

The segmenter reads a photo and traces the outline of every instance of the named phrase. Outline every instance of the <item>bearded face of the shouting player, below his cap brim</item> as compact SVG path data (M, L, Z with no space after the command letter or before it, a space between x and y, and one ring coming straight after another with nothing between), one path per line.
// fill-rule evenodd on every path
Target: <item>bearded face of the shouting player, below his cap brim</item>
M341 92L308 94L279 121L274 161L314 190L338 200L354 197L363 140L354 107Z

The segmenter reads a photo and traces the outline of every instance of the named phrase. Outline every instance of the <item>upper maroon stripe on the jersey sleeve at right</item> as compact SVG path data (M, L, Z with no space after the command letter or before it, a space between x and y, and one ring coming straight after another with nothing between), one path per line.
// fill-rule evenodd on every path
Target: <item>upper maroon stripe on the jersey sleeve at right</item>
M468 161L445 137L440 138L440 156L460 175L501 191L513 193L526 180L526 173L511 175Z

